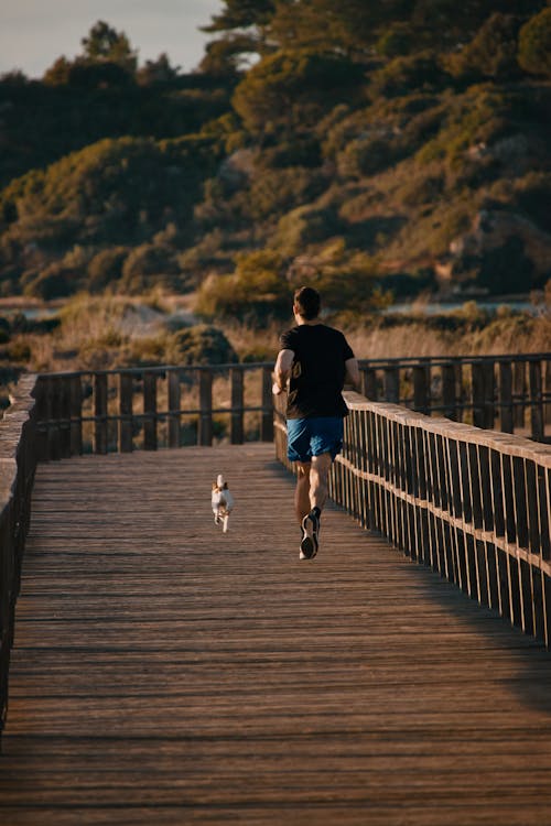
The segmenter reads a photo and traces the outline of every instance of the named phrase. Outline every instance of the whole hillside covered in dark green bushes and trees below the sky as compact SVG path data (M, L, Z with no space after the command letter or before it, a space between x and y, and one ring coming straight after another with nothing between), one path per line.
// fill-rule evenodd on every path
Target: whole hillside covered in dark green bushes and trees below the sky
M208 21L205 21L206 23ZM98 22L0 79L0 294L266 324L551 278L544 0L225 0L187 75Z

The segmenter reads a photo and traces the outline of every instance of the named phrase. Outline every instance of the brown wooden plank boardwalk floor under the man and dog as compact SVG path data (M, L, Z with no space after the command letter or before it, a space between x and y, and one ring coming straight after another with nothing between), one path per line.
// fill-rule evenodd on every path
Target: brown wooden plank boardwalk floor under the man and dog
M300 563L272 454L40 467L2 826L551 824L551 656L336 509Z

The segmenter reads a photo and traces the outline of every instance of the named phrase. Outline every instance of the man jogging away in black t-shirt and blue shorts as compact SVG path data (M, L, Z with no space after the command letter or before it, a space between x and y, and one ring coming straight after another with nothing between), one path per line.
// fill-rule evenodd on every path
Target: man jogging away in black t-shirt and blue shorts
M312 559L320 544L320 517L327 499L327 477L343 447L348 414L343 387L359 387L358 362L339 330L320 320L320 293L303 286L294 293L296 326L281 335L273 392L287 389L288 458L298 463L294 507L302 528L300 559Z

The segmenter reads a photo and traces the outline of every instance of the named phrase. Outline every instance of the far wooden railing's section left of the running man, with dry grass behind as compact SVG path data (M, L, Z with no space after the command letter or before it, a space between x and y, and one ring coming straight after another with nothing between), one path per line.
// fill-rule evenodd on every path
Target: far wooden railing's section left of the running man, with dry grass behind
M40 459L273 438L272 366L160 367L39 378Z

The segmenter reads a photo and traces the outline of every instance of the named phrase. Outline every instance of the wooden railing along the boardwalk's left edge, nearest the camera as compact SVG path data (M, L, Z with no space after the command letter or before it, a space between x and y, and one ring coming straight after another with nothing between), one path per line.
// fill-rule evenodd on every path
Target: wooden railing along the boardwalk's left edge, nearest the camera
M33 376L20 380L0 420L0 733L8 707L8 673L21 563L36 467Z

